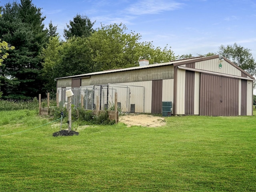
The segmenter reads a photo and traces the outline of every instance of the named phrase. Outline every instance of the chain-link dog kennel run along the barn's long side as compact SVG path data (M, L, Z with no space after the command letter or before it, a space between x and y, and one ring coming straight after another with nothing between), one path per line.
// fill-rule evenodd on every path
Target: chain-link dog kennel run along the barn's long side
M115 93L118 93L118 111L125 113L144 113L144 87L120 84L81 86L80 88L58 88L59 106L67 103L66 90L72 90L74 108L95 110L97 96L100 110L114 110Z

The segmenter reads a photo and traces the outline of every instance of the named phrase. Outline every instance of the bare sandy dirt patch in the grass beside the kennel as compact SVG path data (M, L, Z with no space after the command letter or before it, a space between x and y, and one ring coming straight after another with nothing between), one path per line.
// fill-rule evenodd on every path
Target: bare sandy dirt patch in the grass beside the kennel
M128 127L136 126L147 126L147 127L159 127L166 124L163 117L152 116L146 114L134 114L119 116L119 122L126 124Z

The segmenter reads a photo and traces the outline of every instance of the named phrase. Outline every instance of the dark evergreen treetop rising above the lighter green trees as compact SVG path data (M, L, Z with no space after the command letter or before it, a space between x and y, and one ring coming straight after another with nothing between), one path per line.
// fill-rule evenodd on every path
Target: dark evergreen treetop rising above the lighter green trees
M67 29L64 29L64 37L66 40L71 37L89 37L92 32L94 31L92 26L94 22L91 22L90 18L85 15L77 14L73 21L70 20L69 24L67 25Z

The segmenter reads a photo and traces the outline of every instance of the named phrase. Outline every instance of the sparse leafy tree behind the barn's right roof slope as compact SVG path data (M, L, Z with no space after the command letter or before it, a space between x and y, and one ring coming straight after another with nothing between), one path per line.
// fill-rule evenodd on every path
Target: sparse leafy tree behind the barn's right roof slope
M234 45L221 45L218 53L232 61L249 74L254 76L256 75L256 62L250 49L234 43Z

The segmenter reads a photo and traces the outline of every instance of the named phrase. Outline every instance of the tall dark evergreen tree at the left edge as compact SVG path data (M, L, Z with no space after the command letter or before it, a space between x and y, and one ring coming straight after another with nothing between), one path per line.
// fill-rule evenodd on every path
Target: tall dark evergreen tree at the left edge
M2 9L0 38L15 47L0 67L3 98L28 99L42 89L39 55L47 40L44 19L31 0L8 3Z

